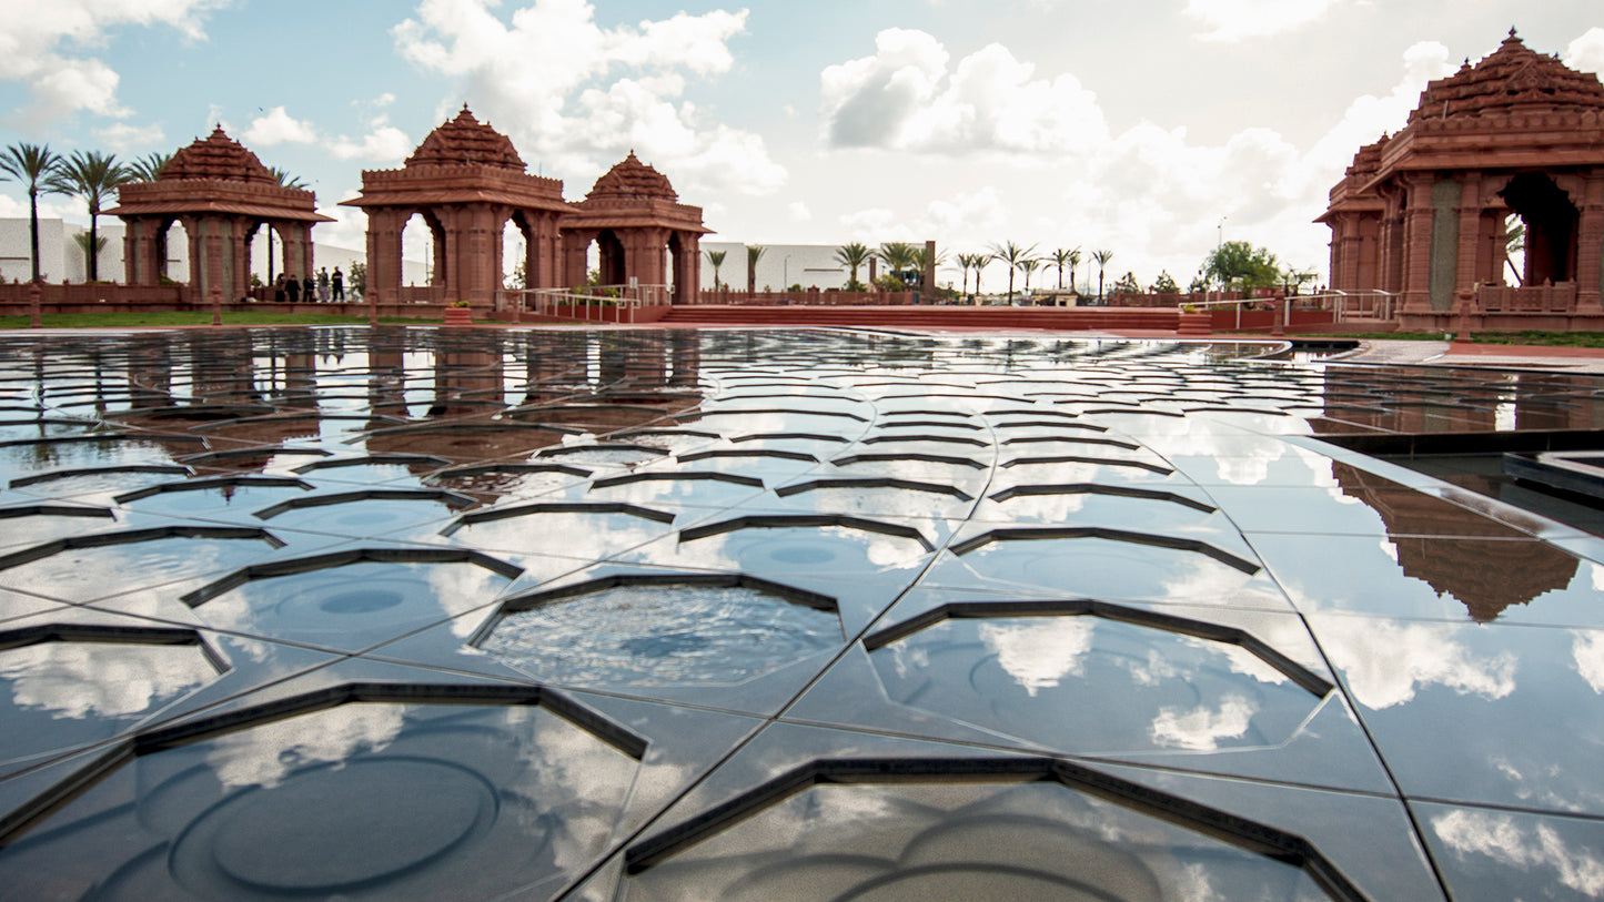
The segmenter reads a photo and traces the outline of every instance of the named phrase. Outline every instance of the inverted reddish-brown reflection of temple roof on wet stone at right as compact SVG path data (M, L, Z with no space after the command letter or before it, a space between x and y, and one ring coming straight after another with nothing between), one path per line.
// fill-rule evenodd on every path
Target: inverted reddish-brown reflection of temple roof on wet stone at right
M1562 590L1577 575L1574 556L1546 542L1511 538L1519 534L1476 511L1341 461L1331 461L1331 473L1344 495L1381 514L1404 574L1453 596L1474 620L1497 620L1511 604Z

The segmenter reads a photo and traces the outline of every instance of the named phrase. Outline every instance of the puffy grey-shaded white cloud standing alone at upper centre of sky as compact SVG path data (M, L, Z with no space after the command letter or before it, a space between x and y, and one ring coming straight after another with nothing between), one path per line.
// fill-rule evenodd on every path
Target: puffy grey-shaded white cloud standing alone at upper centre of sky
M1068 74L1036 79L1003 45L991 43L948 69L932 35L885 29L874 56L849 59L820 75L828 141L962 155L1084 151L1107 138L1097 98Z

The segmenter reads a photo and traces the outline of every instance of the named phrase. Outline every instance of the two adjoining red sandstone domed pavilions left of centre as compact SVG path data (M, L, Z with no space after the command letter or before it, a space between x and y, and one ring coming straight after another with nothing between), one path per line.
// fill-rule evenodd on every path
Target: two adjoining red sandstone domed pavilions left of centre
M701 208L678 203L669 179L630 154L597 179L579 203L560 179L525 171L512 141L467 106L419 144L399 170L363 173L361 195L343 202L367 213L367 287L385 300L489 304L510 268L502 232L523 232L528 288L582 285L592 242L602 284L677 287L695 300ZM401 234L420 215L433 236L431 284L401 285Z

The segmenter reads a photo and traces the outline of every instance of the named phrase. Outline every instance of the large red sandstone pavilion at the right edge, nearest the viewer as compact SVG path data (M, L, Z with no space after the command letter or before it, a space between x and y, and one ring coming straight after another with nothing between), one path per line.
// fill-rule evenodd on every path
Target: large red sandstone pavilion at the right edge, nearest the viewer
M1399 295L1400 328L1604 328L1604 85L1511 29L1362 147L1318 221L1331 287Z

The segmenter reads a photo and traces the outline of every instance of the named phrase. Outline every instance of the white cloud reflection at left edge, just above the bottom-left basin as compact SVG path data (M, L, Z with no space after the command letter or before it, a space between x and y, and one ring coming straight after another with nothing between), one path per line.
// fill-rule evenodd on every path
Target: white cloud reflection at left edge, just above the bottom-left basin
M40 642L0 652L16 705L53 718L138 715L215 676L196 646Z

